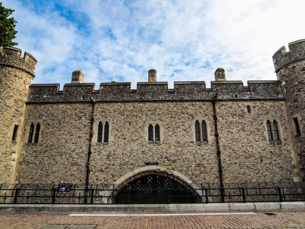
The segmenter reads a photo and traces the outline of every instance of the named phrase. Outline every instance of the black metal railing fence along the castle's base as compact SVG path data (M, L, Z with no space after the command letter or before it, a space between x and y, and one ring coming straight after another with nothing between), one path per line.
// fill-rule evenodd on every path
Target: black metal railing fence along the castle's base
M0 184L0 204L171 204L305 201L305 182L117 185Z

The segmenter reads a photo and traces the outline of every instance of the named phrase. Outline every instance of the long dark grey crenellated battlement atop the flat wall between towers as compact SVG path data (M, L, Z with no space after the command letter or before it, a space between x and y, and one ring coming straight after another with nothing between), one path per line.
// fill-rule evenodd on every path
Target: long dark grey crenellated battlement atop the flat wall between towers
M212 81L206 88L204 81L174 82L169 89L167 82L138 82L136 89L131 83L101 83L95 90L94 83L69 83L63 90L59 84L32 84L28 102L89 102L93 97L97 102L132 101L196 101L210 100L215 93L222 100L283 99L281 83L272 81Z

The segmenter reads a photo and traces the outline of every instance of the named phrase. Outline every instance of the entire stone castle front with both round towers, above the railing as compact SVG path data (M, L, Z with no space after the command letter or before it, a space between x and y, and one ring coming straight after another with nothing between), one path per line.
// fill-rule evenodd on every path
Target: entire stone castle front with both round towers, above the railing
M302 181L305 40L290 43L289 50L282 47L273 56L278 80L247 86L226 81L221 69L221 81L210 88L197 81L174 82L169 89L167 82L156 82L153 70L155 79L136 89L131 83L101 83L95 90L76 71L73 83L60 91L59 84L29 86L36 59L1 47L0 182L85 184L94 107L89 183L121 184L149 170L187 183L219 183L211 102L216 94L224 183ZM293 118L301 134L295 133ZM197 119L207 124L208 142L195 141ZM268 140L267 120L278 124L280 140ZM110 124L108 143L96 142L99 121ZM37 143L27 142L31 123L40 125ZM148 141L151 123L159 124L160 141ZM15 125L19 131L12 141Z

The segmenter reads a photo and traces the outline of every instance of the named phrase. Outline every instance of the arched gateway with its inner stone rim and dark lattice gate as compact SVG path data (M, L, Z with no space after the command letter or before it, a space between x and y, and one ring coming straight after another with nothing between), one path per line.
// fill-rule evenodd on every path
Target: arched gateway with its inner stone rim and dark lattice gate
M142 169L143 171L143 169ZM117 188L116 204L197 203L199 196L190 184L166 171L143 171L125 179ZM175 172L178 174L177 172Z

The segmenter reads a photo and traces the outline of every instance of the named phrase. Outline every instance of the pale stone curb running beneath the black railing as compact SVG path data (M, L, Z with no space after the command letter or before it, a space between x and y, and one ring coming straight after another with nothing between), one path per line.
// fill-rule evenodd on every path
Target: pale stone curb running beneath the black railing
M212 212L264 212L301 211L305 202L267 203L211 203L168 205L40 205L3 204L0 213L212 213Z

